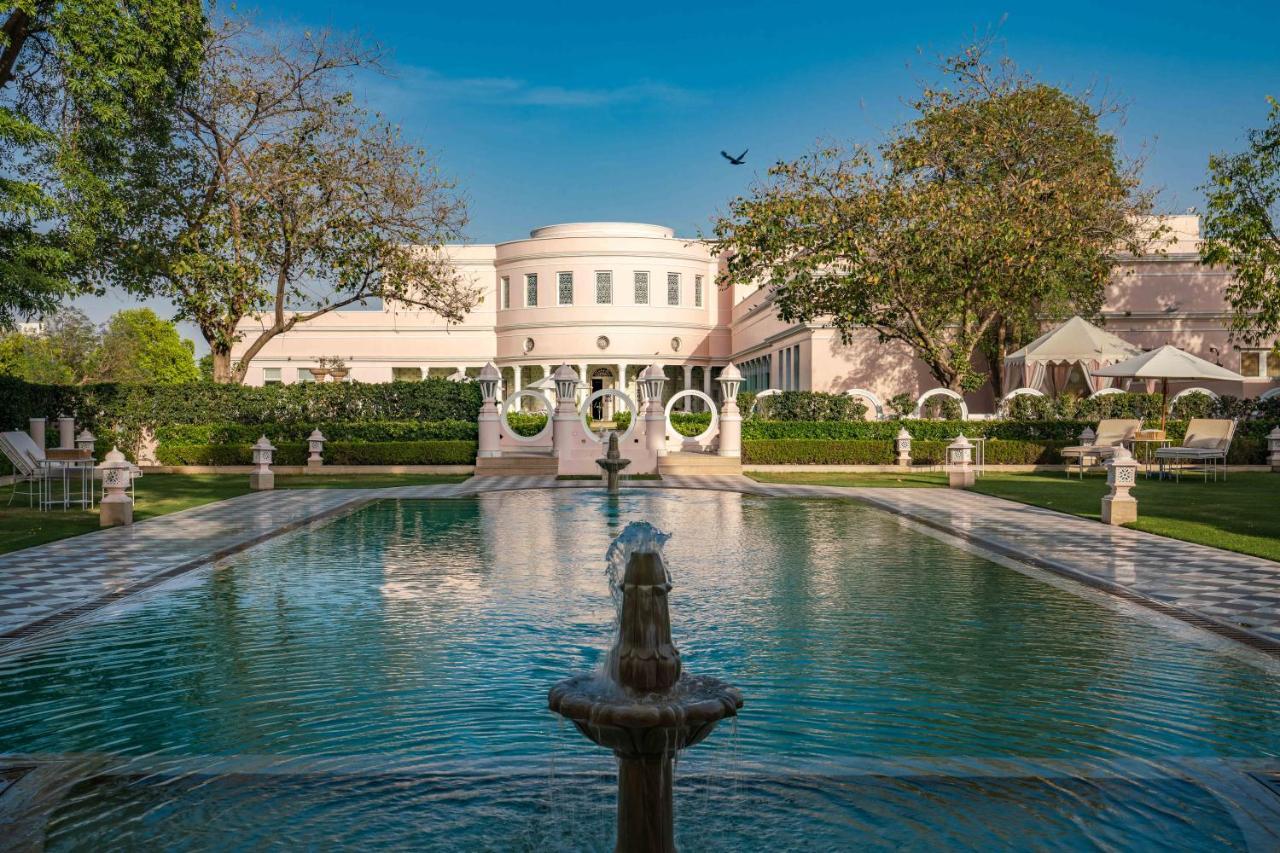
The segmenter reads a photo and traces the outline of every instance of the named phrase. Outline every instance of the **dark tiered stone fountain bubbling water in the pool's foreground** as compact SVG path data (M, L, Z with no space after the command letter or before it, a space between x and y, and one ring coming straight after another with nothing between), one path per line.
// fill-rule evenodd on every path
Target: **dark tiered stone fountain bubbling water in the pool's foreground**
M671 640L664 540L643 521L632 521L614 540L611 561L625 570L621 580L611 571L618 631L604 671L566 679L547 697L552 711L617 756L620 853L676 849L672 758L742 707L737 688L682 671Z

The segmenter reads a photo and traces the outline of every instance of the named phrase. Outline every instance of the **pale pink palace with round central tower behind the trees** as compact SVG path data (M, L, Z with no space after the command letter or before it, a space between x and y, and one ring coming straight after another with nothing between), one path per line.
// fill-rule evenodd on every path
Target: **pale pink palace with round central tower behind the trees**
M1198 218L1166 222L1171 236L1162 251L1120 259L1103 328L1142 348L1171 343L1245 377L1210 383L1216 393L1280 392L1280 359L1266 345L1239 348L1228 334L1222 291L1229 273L1199 264ZM584 393L622 388L632 400L637 374L654 362L666 369L668 394L692 388L718 397L714 379L731 361L748 391L854 392L887 401L901 393L918 397L938 384L905 347L878 343L872 332L841 343L820 321L780 320L767 288L718 288L718 260L708 246L662 225L548 225L527 240L447 251L483 289L463 323L448 325L396 304L334 311L273 339L253 359L247 382L312 382L310 368L321 357L338 357L358 382L475 377L493 361L504 394L547 387L561 364L577 370ZM252 332L259 323L246 320L242 329ZM244 346L237 346L233 359ZM1047 371L1044 382L1053 384L1046 392L1088 389L1088 379L1069 364ZM984 412L993 410L996 397L988 387L965 402Z

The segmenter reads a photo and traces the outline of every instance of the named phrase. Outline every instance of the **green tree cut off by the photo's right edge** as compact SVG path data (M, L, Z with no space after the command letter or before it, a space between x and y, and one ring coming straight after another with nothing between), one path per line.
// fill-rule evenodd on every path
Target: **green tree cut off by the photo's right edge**
M1280 334L1280 101L1267 100L1267 126L1249 131L1245 151L1211 156L1202 187L1201 257L1231 269L1231 332L1247 343Z

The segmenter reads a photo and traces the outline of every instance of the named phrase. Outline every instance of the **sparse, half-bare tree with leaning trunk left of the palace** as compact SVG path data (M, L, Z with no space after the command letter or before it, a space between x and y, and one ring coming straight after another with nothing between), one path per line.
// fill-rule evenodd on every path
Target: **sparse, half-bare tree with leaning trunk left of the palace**
M232 20L210 36L118 272L196 323L216 382L242 382L274 337L348 305L398 300L458 321L479 301L439 251L461 233L462 200L344 87L378 63L328 33L280 42ZM246 332L250 316L262 321Z

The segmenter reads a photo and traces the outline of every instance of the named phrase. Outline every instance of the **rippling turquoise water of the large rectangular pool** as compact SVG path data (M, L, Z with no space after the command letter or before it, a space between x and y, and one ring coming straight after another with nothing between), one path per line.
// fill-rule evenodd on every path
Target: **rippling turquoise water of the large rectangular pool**
M504 492L371 505L0 658L50 849L609 849L604 552L672 534L685 666L746 707L677 767L687 849L1280 847L1280 675L851 502ZM0 795L0 827L5 826Z

